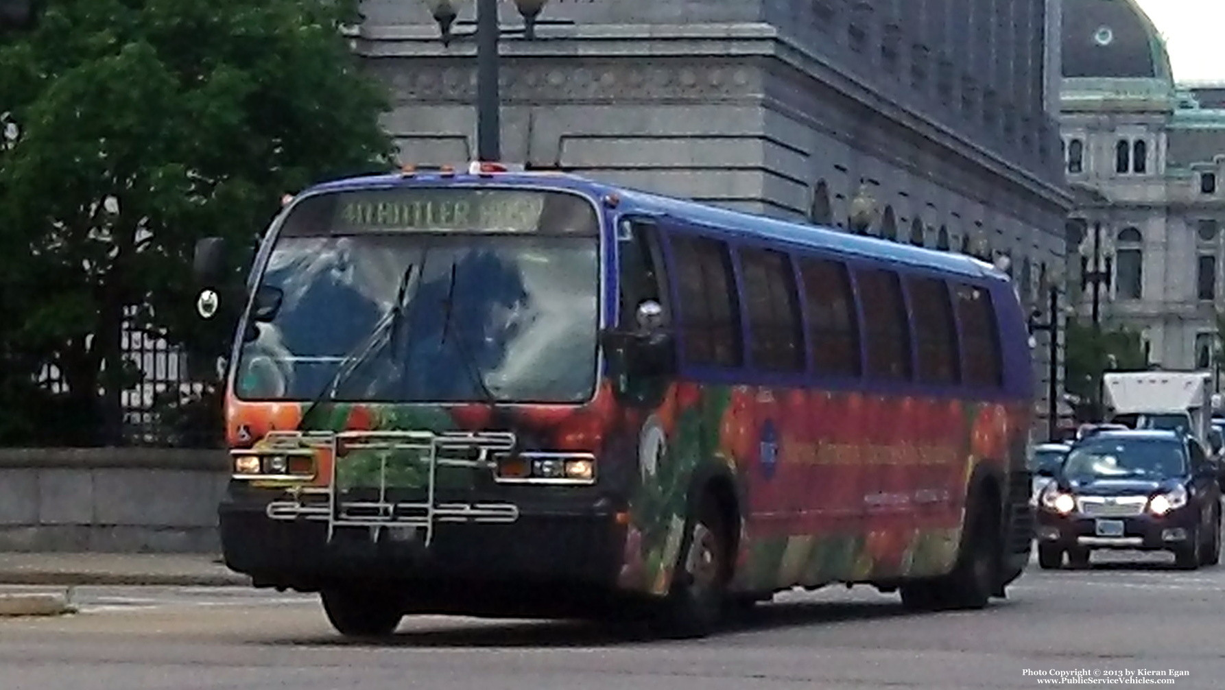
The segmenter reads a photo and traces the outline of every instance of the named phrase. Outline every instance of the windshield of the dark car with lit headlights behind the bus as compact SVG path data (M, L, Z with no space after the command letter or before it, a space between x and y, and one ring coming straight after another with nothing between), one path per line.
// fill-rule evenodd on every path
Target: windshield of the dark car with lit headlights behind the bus
M1152 439L1100 439L1072 450L1063 476L1072 480L1178 477L1185 468L1181 444Z

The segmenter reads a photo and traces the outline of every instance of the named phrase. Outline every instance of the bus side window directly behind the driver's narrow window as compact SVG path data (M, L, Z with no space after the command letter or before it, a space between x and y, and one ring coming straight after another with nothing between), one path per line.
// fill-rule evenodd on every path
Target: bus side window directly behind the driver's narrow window
M744 339L728 245L714 239L670 235L676 257L679 330L690 364L740 366Z

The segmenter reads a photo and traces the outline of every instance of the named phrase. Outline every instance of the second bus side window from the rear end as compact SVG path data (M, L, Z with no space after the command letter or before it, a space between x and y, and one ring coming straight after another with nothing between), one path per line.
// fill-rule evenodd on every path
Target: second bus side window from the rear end
M938 278L910 278L907 288L919 348L918 379L925 384L957 384L960 359L948 284Z

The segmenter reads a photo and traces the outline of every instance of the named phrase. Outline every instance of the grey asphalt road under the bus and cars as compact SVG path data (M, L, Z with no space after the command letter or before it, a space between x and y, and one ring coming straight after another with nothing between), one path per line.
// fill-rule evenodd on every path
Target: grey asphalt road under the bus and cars
M314 597L170 587L87 587L72 597L81 609L72 616L0 620L0 689L1041 686L1025 669L1098 679L1131 672L1133 680L1171 678L1140 669L1177 672L1187 675L1150 685L1225 686L1225 567L1035 566L1007 601L973 613L910 614L897 596L869 588L794 593L746 625L687 642L576 624L417 618L370 645L337 637Z

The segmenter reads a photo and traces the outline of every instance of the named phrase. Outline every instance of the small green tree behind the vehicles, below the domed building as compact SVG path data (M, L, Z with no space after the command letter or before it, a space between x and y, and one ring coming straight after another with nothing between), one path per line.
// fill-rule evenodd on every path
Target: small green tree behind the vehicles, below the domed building
M1148 360L1140 335L1126 326L1102 327L1068 319L1065 351L1065 389L1083 401L1095 400L1104 371L1143 371Z

